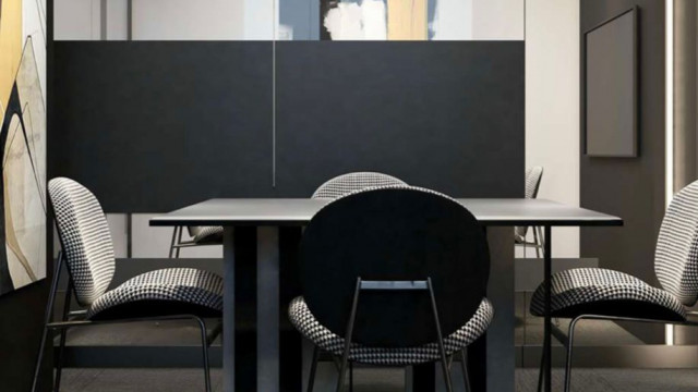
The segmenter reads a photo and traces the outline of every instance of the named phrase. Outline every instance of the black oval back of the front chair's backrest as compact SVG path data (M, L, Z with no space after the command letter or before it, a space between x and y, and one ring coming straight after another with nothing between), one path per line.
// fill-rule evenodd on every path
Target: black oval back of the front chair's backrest
M369 188L323 208L303 233L301 283L321 324L345 336L357 278L431 278L442 333L455 332L485 296L485 233L456 200L423 188ZM352 341L407 347L436 341L429 292L361 292Z

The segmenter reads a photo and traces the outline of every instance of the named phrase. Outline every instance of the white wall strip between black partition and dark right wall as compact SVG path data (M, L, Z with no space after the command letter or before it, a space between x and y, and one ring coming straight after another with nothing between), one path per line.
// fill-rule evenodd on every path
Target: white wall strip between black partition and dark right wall
M540 198L579 206L579 0L526 1L526 164ZM553 230L553 256L579 256L579 230Z

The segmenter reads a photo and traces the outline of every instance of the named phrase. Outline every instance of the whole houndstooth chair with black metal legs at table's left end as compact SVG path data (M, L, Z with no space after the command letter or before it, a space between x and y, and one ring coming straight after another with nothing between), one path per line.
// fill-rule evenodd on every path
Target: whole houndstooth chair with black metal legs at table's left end
M33 391L47 342L48 331L59 329L60 353L65 330L100 322L133 320L193 319L202 333L205 387L210 391L207 348L214 336L207 335L205 317L220 318L222 279L213 272L191 268L169 268L146 272L108 290L115 273L115 254L107 220L97 198L77 182L58 177L49 182L49 196L56 212L61 254L51 296L47 306L41 348L36 365ZM63 319L51 322L58 277L62 264L69 271ZM71 314L70 298L75 294L84 313ZM72 316L84 316L75 319ZM217 333L217 329L215 330ZM57 364L55 390L60 388L61 364Z

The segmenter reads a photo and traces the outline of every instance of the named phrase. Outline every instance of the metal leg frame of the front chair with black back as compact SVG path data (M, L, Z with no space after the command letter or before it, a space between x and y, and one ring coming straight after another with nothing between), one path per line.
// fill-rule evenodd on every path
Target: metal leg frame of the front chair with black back
M441 331L438 309L436 308L436 298L434 296L434 290L432 287L431 278L426 278L426 280L422 280L422 281L374 281L374 280L369 281L369 280L362 280L361 277L357 278L357 285L353 292L353 301L351 303L351 310L349 314L349 321L347 322L347 331L345 335L345 347L341 355L341 362L339 363L339 366L338 366L339 375L337 378L336 391L344 392L345 390L345 378L347 373L347 367L349 367L349 371L350 371L350 390L353 387L352 385L353 378L351 377L352 376L351 372L353 368L349 364L349 354L351 348L353 326L357 319L357 310L359 307L359 298L362 291L384 291L384 292L424 291L429 293L430 299L431 299L432 314L434 316L434 328L436 330L436 333L435 333L436 343L438 345L438 352L441 355L441 364L442 364L444 381L446 384L446 390L448 392L453 392L453 383L450 379L450 365L453 362L453 355L447 356L446 350L444 348L444 339ZM468 366L466 364L467 355L466 355L465 348L460 351L460 355L461 355L460 366L461 366L461 371L464 377L464 383L465 383L466 391L469 392L470 381L468 378ZM318 359L320 359L320 347L315 345L315 348L313 350L313 358L312 358L312 365L310 369L310 379L308 382L308 392L313 392L313 387L315 383L315 372L317 370Z

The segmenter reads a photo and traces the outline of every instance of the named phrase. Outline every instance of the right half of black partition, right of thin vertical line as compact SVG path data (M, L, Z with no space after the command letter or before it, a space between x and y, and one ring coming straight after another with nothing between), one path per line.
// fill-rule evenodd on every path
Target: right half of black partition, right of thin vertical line
M522 41L281 41L276 58L280 193L371 170L522 196Z

